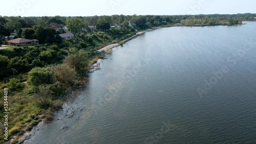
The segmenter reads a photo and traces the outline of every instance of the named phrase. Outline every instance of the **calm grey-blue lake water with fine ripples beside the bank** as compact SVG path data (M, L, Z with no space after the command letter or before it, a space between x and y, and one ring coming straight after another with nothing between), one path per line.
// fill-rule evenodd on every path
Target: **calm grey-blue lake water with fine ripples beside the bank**
M256 143L255 34L256 22L147 32L25 143Z

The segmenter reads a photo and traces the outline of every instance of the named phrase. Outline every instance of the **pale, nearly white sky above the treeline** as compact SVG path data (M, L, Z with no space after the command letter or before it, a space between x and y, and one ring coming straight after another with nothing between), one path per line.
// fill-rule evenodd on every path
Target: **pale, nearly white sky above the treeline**
M256 13L255 0L2 0L0 4L2 16Z

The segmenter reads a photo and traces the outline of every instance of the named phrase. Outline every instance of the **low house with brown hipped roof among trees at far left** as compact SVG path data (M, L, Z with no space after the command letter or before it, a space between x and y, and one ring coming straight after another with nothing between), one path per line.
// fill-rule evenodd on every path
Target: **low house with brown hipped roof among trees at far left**
M15 46L26 46L26 45L35 45L38 44L37 39L25 39L25 38L16 38L13 40L7 41L8 45L15 45Z

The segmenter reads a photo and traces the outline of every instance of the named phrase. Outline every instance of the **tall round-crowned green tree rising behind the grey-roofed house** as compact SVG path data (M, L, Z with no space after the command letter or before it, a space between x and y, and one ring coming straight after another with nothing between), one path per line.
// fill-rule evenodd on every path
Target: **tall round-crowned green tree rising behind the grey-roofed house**
M77 39L78 36L82 33L82 29L88 27L87 21L81 18L72 17L69 18L66 23L68 30L74 34L75 43L77 44Z

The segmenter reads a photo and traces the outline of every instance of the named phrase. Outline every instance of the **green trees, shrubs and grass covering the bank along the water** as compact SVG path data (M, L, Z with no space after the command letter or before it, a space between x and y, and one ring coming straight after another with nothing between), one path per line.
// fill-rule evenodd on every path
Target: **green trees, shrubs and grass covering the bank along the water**
M90 65L104 57L98 52L147 29L175 26L236 26L254 21L256 14L234 15L112 15L88 17L0 16L0 93L8 88L8 139L18 138L65 102L69 87L84 86ZM71 37L61 37L63 34ZM36 39L38 44L10 44L12 37ZM8 42L9 41L9 42ZM9 44L9 45L8 45ZM1 47L0 47L1 48ZM4 100L4 95L1 94ZM4 103L0 103L1 124ZM0 142L4 142L3 125Z

